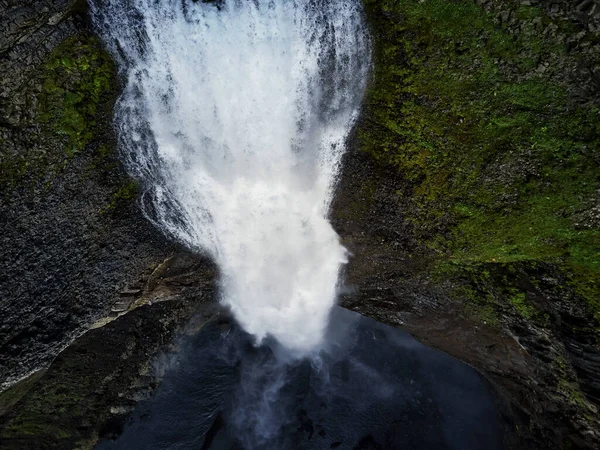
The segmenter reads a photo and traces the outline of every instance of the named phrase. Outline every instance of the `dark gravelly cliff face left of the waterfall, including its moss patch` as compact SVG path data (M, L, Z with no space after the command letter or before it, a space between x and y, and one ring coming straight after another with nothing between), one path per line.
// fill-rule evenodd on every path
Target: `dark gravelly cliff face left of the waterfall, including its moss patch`
M111 127L117 80L85 5L0 2L0 386L47 364L172 251L132 204Z

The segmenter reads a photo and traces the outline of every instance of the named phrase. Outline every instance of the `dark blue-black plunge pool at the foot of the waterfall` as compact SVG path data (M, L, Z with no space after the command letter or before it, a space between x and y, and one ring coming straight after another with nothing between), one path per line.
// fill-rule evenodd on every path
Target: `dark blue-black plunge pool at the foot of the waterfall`
M97 449L502 449L489 386L469 366L342 308L318 361L281 363L235 325L207 324L153 398Z

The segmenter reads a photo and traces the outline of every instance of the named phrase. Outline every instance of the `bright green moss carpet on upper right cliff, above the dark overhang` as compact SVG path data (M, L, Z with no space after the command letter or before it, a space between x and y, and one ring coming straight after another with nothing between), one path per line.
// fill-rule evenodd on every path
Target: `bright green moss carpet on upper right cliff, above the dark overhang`
M417 238L461 264L585 274L573 283L600 311L600 230L577 219L600 188L600 109L537 70L567 58L551 19L515 5L513 33L471 0L365 6L376 64L358 138L410 184Z

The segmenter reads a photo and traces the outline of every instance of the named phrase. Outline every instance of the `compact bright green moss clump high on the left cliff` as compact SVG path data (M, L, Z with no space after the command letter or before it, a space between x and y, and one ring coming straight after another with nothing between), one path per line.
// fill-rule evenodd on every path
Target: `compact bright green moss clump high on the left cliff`
M40 121L72 156L92 139L103 100L114 96L114 65L97 38L68 38L44 65Z

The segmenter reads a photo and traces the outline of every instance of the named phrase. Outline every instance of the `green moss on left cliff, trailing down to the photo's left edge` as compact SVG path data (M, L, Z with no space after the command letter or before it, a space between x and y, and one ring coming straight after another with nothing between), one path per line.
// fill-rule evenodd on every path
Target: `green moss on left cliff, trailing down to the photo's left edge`
M85 2L78 2L85 4ZM106 126L116 98L115 69L97 38L87 33L56 47L35 74L41 84L37 117L41 132L28 131L29 145L18 154L2 155L0 192L10 187L47 185Z

